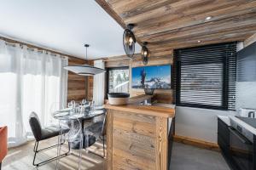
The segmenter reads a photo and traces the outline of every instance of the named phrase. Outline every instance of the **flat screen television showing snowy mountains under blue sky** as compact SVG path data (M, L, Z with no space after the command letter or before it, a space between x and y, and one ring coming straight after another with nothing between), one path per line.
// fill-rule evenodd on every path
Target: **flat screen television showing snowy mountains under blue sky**
M171 65L134 67L132 88L171 89Z

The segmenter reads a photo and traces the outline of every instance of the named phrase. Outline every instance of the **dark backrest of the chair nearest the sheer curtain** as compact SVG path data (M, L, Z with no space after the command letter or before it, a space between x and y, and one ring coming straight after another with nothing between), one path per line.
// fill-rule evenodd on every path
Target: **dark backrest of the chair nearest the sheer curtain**
M42 137L42 127L39 121L38 115L35 112L32 112L29 116L29 124L32 129L32 133L37 141Z

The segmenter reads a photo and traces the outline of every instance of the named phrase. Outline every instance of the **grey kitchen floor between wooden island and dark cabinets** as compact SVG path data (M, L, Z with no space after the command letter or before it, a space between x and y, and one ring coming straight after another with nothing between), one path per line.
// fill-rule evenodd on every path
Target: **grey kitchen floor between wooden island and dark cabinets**
M180 143L173 144L171 169L230 170L219 152Z

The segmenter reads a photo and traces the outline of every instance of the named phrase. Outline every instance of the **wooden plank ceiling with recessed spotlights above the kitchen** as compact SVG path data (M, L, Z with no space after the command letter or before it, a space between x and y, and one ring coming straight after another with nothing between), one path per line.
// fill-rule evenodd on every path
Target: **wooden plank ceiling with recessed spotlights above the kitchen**
M96 0L120 26L135 24L151 52L244 41L256 33L254 0ZM207 20L207 17L211 17Z

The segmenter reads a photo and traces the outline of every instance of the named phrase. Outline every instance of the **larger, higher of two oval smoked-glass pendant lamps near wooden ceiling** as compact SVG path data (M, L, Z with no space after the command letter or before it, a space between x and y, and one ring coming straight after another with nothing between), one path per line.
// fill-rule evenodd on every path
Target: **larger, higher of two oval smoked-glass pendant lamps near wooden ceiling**
M133 54L135 51L135 43L136 43L135 36L131 31L133 27L134 27L133 24L129 24L123 34L123 45L125 48L125 54L127 54L127 56L130 58L133 57Z

